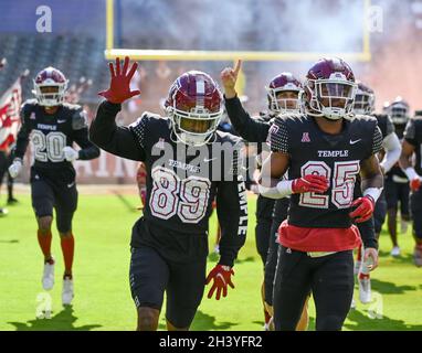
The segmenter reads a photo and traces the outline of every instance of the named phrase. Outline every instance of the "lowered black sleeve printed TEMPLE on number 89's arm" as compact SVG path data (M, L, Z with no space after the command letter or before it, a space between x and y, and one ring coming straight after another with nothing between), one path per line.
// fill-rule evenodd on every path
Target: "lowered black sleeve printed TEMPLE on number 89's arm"
M242 176L219 184L217 214L221 226L219 264L232 267L247 231L247 199Z

